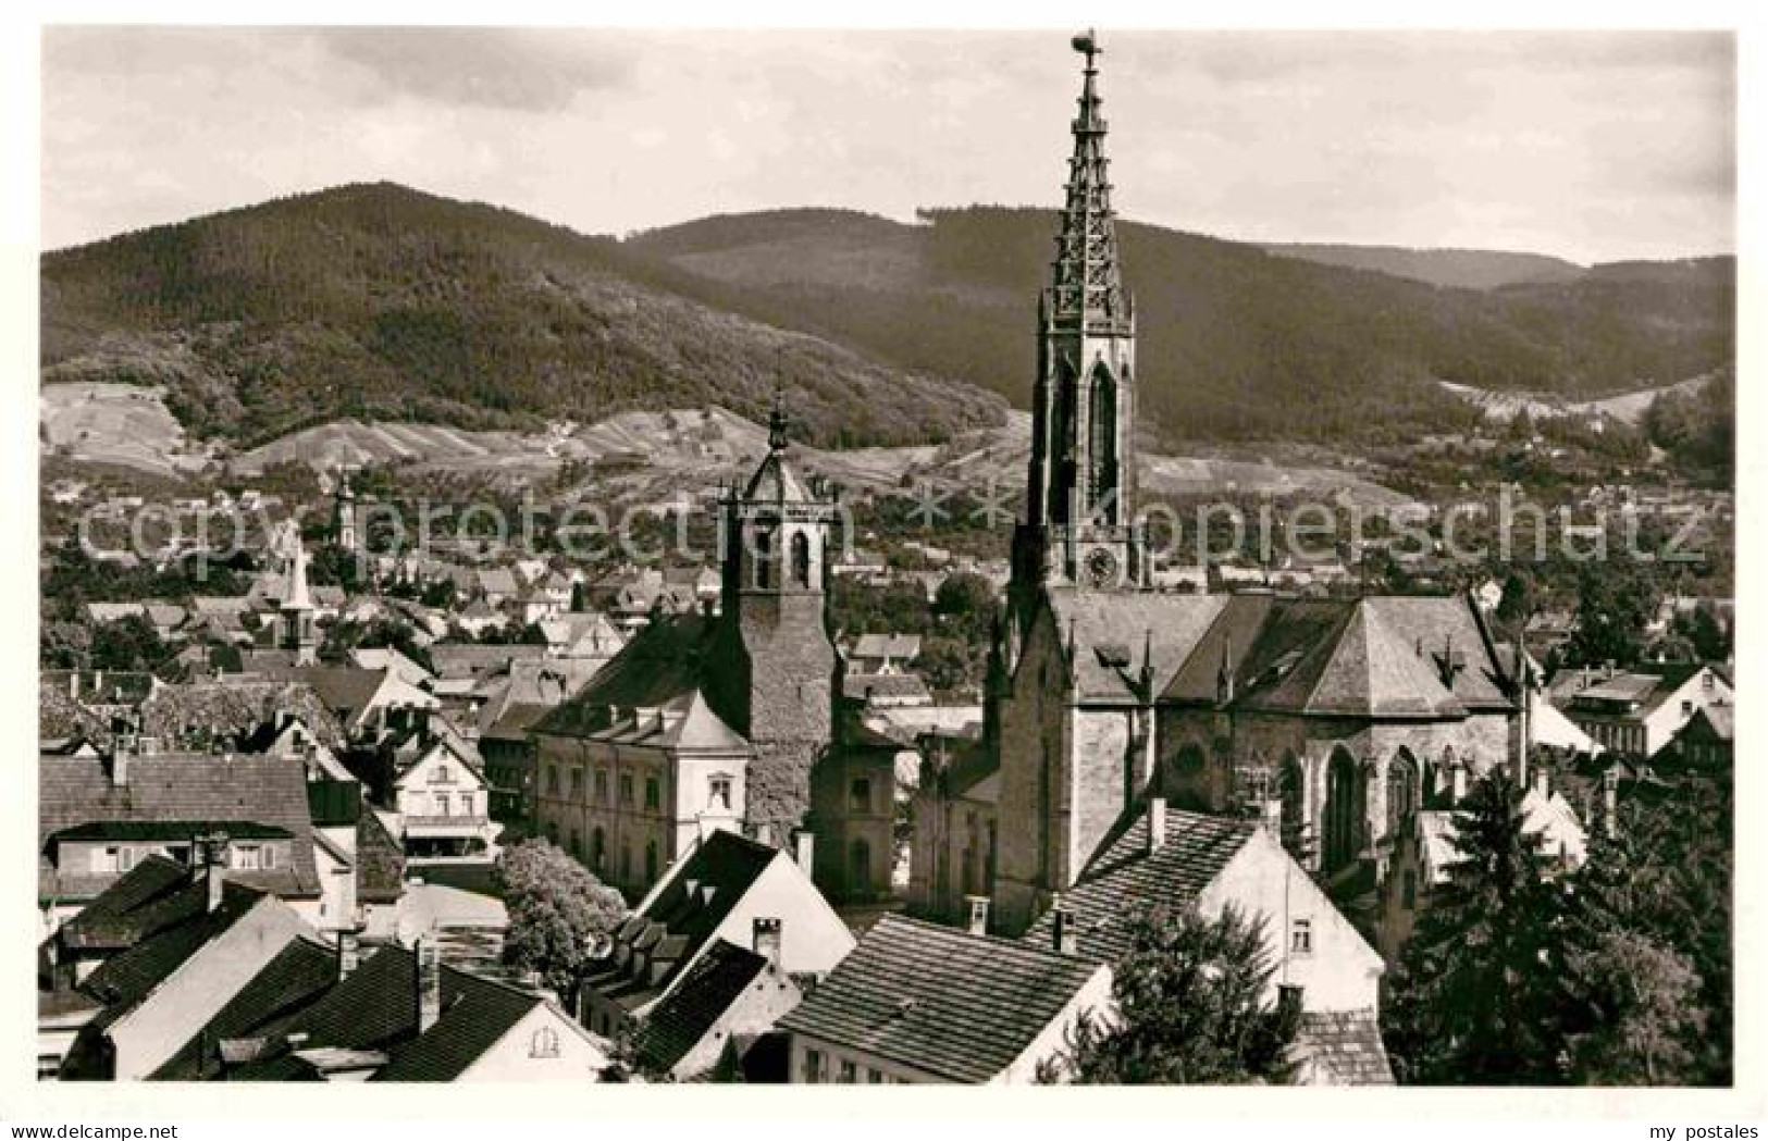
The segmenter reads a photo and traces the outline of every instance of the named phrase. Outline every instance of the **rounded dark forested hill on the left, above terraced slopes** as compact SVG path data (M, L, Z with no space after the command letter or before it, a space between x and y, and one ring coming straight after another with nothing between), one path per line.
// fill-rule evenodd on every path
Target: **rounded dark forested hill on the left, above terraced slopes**
M774 382L824 445L997 424L994 394L682 295L677 270L509 210L347 185L46 254L44 382L164 383L251 447L338 417L534 427L721 404Z

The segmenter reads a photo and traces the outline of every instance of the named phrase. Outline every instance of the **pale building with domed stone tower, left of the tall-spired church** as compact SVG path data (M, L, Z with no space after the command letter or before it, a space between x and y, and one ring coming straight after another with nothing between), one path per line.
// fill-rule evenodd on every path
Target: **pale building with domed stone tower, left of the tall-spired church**
M631 897L714 830L808 864L838 901L889 888L895 745L843 715L826 599L838 505L767 456L720 502L716 613L654 615L532 729L534 823Z

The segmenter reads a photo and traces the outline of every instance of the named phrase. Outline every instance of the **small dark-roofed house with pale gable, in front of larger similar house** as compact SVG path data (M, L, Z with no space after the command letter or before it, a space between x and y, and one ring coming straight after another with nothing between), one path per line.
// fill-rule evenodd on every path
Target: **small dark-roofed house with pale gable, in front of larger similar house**
M633 1042L640 1069L674 1081L735 1070L755 1039L803 996L766 954L714 940L640 1026Z

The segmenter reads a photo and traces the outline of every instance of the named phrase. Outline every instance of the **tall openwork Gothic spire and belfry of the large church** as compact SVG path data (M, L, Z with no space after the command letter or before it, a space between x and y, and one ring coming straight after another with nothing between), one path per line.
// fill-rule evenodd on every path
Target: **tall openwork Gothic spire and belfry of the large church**
M1020 608L1043 586L1137 590L1149 581L1135 523L1135 307L1117 265L1101 51L1091 32L1073 46L1086 71L1055 260L1038 300L1025 519L1013 532Z

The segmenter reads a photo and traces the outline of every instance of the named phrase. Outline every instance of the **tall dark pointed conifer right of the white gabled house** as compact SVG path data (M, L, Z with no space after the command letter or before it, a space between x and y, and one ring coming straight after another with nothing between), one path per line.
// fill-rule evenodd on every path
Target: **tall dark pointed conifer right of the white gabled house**
M1556 890L1503 768L1473 788L1452 844L1459 858L1432 888L1383 1007L1395 1069L1423 1084L1563 1081Z

